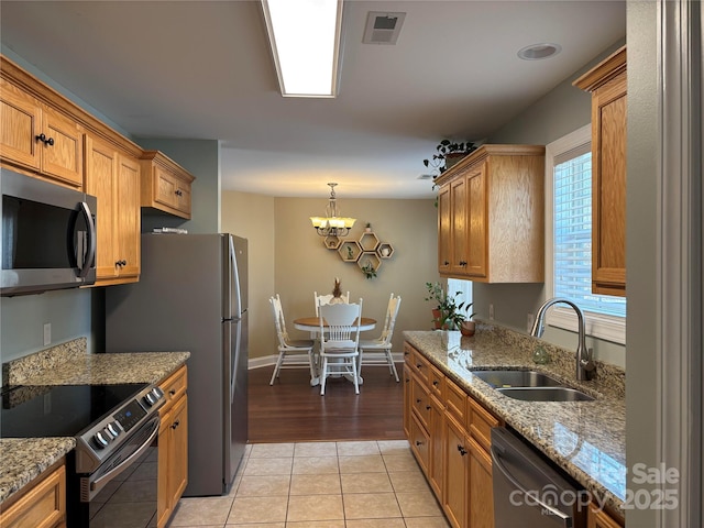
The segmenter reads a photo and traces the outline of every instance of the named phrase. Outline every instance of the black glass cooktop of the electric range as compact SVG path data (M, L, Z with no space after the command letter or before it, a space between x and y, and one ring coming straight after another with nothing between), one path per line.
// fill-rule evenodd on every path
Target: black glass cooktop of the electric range
M75 437L146 385L14 387L2 394L0 438Z

